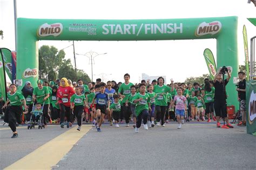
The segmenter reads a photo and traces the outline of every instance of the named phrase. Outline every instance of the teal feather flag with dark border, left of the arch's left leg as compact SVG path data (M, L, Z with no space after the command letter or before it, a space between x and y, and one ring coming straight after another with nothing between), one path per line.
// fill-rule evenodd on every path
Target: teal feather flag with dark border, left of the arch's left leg
M5 66L5 71L8 74L8 77L12 81L12 62L11 62L11 50L2 48L2 55L4 59L4 66Z

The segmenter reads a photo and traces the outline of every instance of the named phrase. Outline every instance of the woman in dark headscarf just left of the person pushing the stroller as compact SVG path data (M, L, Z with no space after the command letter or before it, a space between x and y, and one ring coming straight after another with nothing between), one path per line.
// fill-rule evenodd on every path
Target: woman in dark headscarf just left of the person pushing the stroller
M32 100L33 90L34 89L31 86L30 81L26 81L24 87L22 88L22 95L25 98L26 105L29 107L29 112L25 114L26 121L30 121L30 117L31 117L30 112L32 111L32 107L33 107L33 100Z

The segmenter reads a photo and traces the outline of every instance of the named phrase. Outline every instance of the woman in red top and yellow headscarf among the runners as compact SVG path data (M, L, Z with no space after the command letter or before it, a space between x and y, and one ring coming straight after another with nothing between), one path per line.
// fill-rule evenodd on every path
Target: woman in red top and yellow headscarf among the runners
M60 107L60 127L64 128L64 118L67 118L68 123L66 127L69 128L70 124L70 98L75 94L73 88L69 85L66 78L60 80L60 86L57 91L57 100Z

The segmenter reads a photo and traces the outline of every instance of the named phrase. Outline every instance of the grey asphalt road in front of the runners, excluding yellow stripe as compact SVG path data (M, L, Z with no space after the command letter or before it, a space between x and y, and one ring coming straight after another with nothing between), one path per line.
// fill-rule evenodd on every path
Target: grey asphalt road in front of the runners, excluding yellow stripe
M11 139L6 127L0 127L1 169L68 130L22 127ZM141 127L136 134L133 127L104 125L101 133L92 128L84 134L53 169L256 169L255 160L256 137L246 134L246 127L193 123L177 130L172 122L148 131Z

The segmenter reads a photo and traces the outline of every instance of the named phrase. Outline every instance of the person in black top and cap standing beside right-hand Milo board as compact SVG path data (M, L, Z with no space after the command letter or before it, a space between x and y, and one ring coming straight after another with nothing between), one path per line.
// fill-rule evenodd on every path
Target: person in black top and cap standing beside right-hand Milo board
M246 111L246 98L245 98L245 86L246 86L246 80L245 80L245 73L240 71L238 72L238 101L239 101L239 108L242 113L242 121L238 123L238 126L246 126L246 119L245 119L245 111Z

